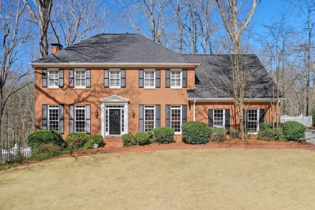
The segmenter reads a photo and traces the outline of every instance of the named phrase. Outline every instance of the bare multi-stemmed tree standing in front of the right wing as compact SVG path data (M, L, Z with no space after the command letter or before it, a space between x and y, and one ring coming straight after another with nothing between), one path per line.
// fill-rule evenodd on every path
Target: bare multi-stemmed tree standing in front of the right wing
M232 41L232 52L234 56L231 56L232 64L232 77L229 78L231 81L232 93L230 94L234 105L237 109L237 113L240 121L241 139L245 141L245 127L242 123L244 120L243 110L245 109L244 99L246 93L246 87L248 82L248 71L246 70L246 57L240 55L241 50L241 36L244 30L252 20L255 8L260 1L253 0L252 7L244 19L240 19L239 10L242 5L239 5L237 0L216 0L221 17L227 33ZM223 2L223 3L222 3ZM221 90L222 92L225 92Z

